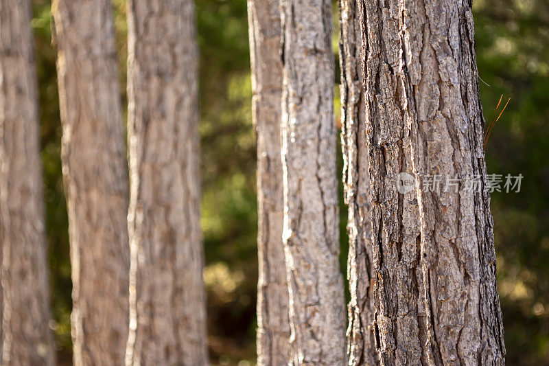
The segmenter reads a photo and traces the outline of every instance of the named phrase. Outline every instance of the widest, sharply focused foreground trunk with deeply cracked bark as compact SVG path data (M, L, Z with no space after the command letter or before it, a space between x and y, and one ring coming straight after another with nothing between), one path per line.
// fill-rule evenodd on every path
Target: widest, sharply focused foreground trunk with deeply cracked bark
M503 365L470 3L360 6L381 364ZM462 183L426 189L435 175ZM476 175L482 192L463 183Z

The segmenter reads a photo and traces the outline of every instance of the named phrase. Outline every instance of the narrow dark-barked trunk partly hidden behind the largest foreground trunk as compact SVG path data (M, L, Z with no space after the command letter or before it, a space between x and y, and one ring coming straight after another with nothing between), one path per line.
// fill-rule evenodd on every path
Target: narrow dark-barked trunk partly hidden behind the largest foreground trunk
M349 365L377 365L373 320L373 253L369 155L366 150L362 37L358 0L340 1L341 146L344 201L349 209L347 356Z

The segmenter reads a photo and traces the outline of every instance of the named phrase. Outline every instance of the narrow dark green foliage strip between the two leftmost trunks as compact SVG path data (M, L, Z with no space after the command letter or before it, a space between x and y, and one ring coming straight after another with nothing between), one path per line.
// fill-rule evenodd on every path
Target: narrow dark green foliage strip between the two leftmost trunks
M71 360L71 264L67 205L61 174L61 123L56 78L56 52L51 47L51 13L47 0L34 1L32 28L36 40L36 72L40 102L40 143L45 183L47 244L51 283L51 308L59 361Z

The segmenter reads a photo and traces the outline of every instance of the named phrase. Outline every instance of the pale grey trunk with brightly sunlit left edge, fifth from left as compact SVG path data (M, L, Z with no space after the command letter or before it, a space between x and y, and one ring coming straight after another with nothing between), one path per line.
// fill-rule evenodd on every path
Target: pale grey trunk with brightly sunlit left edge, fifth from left
M283 243L292 364L342 365L331 1L281 1Z

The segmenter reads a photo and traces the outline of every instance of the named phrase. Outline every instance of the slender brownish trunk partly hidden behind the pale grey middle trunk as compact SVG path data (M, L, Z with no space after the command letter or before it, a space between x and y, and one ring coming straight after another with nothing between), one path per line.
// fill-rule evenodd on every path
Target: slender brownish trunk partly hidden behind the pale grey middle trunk
M281 25L278 0L248 0L257 145L257 364L288 365L290 320L282 244Z

